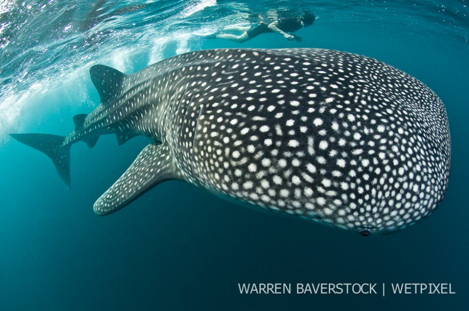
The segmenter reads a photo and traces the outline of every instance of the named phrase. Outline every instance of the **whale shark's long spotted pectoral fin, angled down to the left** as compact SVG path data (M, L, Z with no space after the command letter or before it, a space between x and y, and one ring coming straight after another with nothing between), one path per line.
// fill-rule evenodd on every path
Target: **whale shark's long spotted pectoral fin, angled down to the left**
M157 184L183 179L167 143L152 143L137 156L125 173L94 203L94 212L107 215L126 206Z

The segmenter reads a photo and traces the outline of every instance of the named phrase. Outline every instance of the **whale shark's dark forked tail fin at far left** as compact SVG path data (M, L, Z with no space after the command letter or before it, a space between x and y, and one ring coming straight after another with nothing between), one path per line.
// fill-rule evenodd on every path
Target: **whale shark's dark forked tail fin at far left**
M10 134L18 142L46 154L55 165L63 182L70 188L70 146L65 137L50 134Z

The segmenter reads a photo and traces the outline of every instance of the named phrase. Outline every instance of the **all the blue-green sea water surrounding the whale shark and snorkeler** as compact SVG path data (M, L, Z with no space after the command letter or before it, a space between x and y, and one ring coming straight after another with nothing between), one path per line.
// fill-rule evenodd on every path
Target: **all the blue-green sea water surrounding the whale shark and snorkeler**
M1 1L0 310L467 310L468 2ZM297 32L299 43L190 36L305 9L319 18ZM47 157L6 136L71 132L72 117L99 103L94 64L130 73L191 50L239 46L354 52L426 83L445 103L452 134L440 207L401 232L364 238L171 181L98 217L94 201L145 139L74 145L67 190ZM451 283L456 294L241 295L237 286L320 282Z

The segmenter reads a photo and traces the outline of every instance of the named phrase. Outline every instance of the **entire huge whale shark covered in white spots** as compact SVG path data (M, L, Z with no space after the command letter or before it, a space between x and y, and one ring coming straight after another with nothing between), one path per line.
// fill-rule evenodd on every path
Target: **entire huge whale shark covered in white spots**
M124 74L90 68L101 103L67 137L10 134L70 186L70 147L151 140L94 203L98 215L166 180L361 235L432 213L451 156L440 98L376 59L316 48L193 51Z

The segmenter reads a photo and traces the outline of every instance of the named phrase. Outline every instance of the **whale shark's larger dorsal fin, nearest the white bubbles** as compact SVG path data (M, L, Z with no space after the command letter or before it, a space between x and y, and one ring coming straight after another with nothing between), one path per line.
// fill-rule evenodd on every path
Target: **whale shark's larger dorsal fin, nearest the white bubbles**
M90 68L91 81L98 91L101 103L120 93L125 74L114 68L104 65L94 65Z

